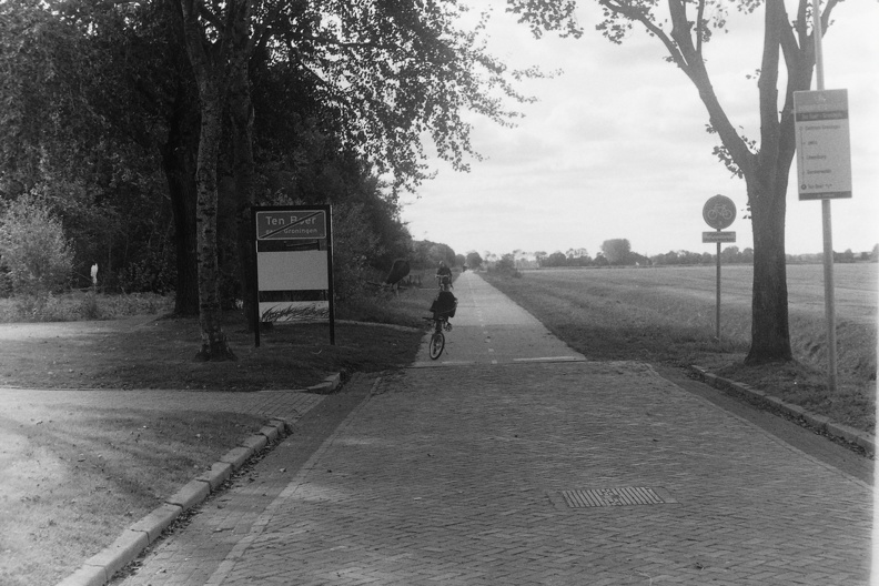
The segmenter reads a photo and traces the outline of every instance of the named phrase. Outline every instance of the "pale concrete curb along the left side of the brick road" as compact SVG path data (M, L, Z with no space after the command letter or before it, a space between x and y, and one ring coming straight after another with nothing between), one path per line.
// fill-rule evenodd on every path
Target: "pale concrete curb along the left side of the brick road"
M339 376L339 375L336 375ZM245 437L215 462L209 471L171 495L152 513L122 532L109 547L87 559L73 574L58 586L103 586L113 574L124 568L154 543L184 511L204 502L233 472L238 471L256 452L275 442L289 430L285 420L274 418L256 434Z

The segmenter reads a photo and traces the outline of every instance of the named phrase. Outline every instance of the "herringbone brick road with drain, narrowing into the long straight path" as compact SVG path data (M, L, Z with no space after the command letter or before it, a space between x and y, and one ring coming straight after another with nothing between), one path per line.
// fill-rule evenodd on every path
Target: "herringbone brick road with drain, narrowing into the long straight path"
M448 356L334 396L319 447L285 442L123 584L868 583L867 484L578 357L476 275L455 293Z

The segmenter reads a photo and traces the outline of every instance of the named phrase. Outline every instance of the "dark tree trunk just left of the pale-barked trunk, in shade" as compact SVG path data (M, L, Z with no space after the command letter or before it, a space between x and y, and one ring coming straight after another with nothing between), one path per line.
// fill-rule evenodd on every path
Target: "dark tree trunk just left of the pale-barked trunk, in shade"
M198 110L184 81L180 81L169 121L168 142L162 146L162 169L174 218L176 290L174 313L198 315L199 274L195 236L195 152L199 144Z

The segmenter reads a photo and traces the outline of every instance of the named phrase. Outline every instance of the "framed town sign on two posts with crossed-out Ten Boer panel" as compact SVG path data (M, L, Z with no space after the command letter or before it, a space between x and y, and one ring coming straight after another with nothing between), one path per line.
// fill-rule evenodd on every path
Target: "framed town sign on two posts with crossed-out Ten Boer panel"
M255 344L262 322L330 322L335 344L330 205L253 208Z

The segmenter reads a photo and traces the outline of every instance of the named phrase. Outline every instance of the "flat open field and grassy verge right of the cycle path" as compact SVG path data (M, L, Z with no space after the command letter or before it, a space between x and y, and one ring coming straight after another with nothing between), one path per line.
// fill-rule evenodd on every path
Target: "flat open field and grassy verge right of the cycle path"
M492 283L554 334L595 360L699 364L833 421L873 432L877 265L835 271L838 390L826 388L822 267L788 266L790 334L797 363L746 367L752 270L721 271L721 342L715 340L714 266L526 271Z

